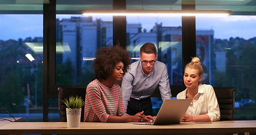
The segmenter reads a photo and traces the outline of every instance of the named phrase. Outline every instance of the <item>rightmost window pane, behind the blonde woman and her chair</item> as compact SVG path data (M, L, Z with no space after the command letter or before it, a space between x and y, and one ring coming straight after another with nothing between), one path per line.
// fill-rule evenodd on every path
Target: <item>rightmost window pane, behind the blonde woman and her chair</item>
M196 17L202 83L235 88L235 120L256 119L256 17Z

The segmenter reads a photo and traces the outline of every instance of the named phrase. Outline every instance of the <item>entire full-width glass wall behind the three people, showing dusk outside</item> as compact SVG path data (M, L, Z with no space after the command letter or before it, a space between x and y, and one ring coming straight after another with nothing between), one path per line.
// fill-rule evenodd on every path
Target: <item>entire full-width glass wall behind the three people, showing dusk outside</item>
M127 9L181 10L181 4L175 2L179 1L127 1ZM24 122L41 122L43 3L0 3L0 108L23 117ZM56 3L56 76L53 77L57 86L86 86L94 78L92 60L96 48L113 44L113 20L82 16L80 12L113 9L113 1L56 0ZM236 88L234 119L256 119L253 114L255 21L255 16L196 17L196 54L205 71L202 82ZM134 61L143 43L154 43L158 60L168 67L172 85L183 83L181 37L181 17L127 17L127 50ZM30 61L26 54L34 60ZM56 93L44 98L48 98L49 118L57 121ZM0 117L5 116L1 111Z

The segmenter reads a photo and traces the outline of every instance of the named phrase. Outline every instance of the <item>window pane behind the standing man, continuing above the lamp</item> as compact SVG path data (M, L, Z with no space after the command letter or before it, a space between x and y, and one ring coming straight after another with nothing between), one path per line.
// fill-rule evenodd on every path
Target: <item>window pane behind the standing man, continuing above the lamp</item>
M177 1L126 1L127 10L181 10ZM140 47L154 43L158 61L168 69L170 85L182 85L181 16L127 16L127 50L134 61L140 59Z

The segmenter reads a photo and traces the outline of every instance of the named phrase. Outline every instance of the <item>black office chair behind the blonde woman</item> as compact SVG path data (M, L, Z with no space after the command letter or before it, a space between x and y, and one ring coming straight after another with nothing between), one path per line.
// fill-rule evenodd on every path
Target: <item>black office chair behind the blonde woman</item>
M220 120L233 120L235 106L235 88L214 88L221 111Z

